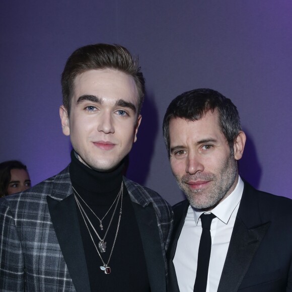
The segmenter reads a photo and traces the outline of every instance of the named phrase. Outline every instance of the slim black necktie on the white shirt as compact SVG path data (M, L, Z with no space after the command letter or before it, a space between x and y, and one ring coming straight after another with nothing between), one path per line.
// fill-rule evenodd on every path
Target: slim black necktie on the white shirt
M202 235L200 239L197 274L194 284L194 292L206 292L208 268L211 253L211 233L210 227L213 218L216 216L212 213L201 214Z

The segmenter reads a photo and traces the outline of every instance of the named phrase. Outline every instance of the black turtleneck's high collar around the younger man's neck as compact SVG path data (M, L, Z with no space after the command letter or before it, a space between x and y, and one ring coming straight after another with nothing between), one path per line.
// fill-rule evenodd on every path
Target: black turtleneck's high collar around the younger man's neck
M96 171L80 162L72 150L69 172L74 186L93 193L108 193L120 188L124 166L122 160L113 171Z

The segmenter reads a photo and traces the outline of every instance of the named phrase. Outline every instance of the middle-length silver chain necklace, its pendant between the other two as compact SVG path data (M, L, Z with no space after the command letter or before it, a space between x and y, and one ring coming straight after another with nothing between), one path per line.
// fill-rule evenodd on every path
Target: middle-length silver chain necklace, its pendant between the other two
M81 198L80 194L76 191L76 189L75 189L73 186L72 186L72 188L73 188L73 190L76 192L76 194ZM82 216L85 215L85 217L87 218L87 220L88 220L90 226L92 227L92 229L94 230L94 232L95 232L95 234L97 235L98 239L100 240L99 243L98 243L98 247L99 247L101 253L106 252L106 241L104 241L104 240L105 240L105 238L106 238L106 236L107 236L107 233L108 233L109 228L110 228L110 226L111 226L111 223L112 223L112 221L113 221L113 217L114 217L114 214L115 214L116 209L117 209L117 206L118 206L119 198L120 198L120 196L121 196L122 193L123 193L123 182L122 182L122 184L121 184L121 188L120 188L120 191L119 191L119 193L118 193L118 196L116 197L116 199L117 199L116 206L115 206L115 208L114 208L114 211L113 211L113 214L112 214L112 217L111 217L110 223L109 223L109 225L108 225L108 228L107 228L107 230L106 230L105 235L104 235L103 238L101 238L101 237L99 236L99 234L97 233L97 231L96 231L96 229L94 228L93 224L92 224L91 221L89 220L89 217L88 217L87 213L85 212L84 208L82 207L80 201L78 200L77 196L74 194L75 200L76 200L77 205L78 205L78 207L79 207L79 209L80 209L80 211L81 211ZM82 199L82 198L81 198L81 199ZM115 201L116 201L116 199L115 199ZM83 200L83 199L82 199L82 200ZM84 201L84 200L83 200L83 201ZM85 204L86 204L86 203L85 203ZM86 204L86 205L87 205L87 204ZM88 206L88 205L87 205L87 206ZM89 208L89 209L93 212L93 214L97 217L97 215L94 213L94 211L93 211L89 206L88 206L88 208ZM83 217L84 217L84 216L83 216ZM98 218L98 217L97 217L97 218ZM84 218L84 220L85 220L85 218Z

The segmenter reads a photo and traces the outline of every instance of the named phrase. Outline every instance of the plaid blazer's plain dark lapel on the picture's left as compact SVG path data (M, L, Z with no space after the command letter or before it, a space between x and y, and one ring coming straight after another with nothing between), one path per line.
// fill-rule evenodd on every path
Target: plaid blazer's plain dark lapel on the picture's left
M47 196L47 203L58 243L76 291L90 292L74 196L71 194L61 201Z

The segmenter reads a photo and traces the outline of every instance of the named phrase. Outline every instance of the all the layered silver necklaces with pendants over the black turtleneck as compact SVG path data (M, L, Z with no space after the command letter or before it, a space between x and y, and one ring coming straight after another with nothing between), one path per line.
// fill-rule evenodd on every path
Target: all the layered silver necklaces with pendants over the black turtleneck
M115 246L115 243L116 243L116 239L117 239L117 235L118 235L118 231L119 231L119 226L120 226L120 220L121 220L121 215L122 215L122 200L123 200L123 182L121 183L121 188L118 192L118 195L116 196L115 200L113 201L112 205L110 206L110 208L108 209L108 211L105 213L105 215L103 216L102 219L100 219L96 214L95 212L90 208L90 206L84 201L84 199L80 196L80 194L77 192L77 190L72 186L73 190L74 190L74 197L75 197L75 200L76 200L76 203L78 205L78 208L81 212L81 215L83 217L83 220L84 220L84 223L85 223L85 226L89 232L89 235L90 235L90 238L94 244L94 247L103 263L103 266L100 266L100 269L102 271L104 271L105 274L109 274L111 273L111 268L108 266L109 262L110 262L110 259L111 259L111 256L112 256L112 253L113 253L113 250L114 250L114 246ZM98 232L96 231L96 229L94 228L92 222L89 220L89 217L87 215L87 213L85 212L83 206L81 205L78 197L84 202L84 204L88 207L88 209L97 217L97 219L99 220L100 222L100 229L103 230L103 225L102 225L102 221L104 220L104 218L106 217L106 215L109 213L110 209L113 207L113 205L115 204L115 207L114 207L114 211L113 211L113 214L111 216L111 219L110 219L110 223L108 225L108 228L105 232L105 235L103 238L100 237L100 235L98 234ZM119 200L121 201L120 203L120 212L119 212L119 219L118 219L118 225L117 225L117 230L116 230L116 234L115 234L115 238L114 238L114 242L113 242L113 246L112 246L112 249L111 249L111 252L110 252L110 255L109 255L109 258L108 258L108 261L105 262L101 256L101 253L105 253L106 252L106 242L105 242L105 238L107 236L107 233L109 231L109 228L111 226L111 223L113 221L113 217L116 213L116 209L117 209L117 206L118 206L118 203L119 203ZM94 233L96 234L96 236L98 237L99 239L99 243L98 243L98 248L97 248L97 245L93 239L93 235L92 235L92 232L89 228L89 225L91 226L92 230L94 231Z

